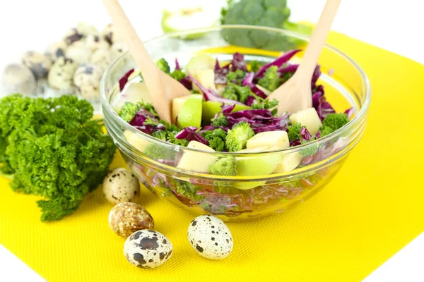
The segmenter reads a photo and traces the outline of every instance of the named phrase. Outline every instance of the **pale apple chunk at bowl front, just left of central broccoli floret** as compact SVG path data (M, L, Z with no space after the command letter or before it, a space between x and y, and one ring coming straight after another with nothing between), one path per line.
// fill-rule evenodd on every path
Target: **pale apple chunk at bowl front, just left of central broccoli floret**
M201 149L208 152L215 152L215 150L211 147L208 147L202 144L201 142L197 141L189 142L189 145L187 145L187 147L192 149ZM211 154L186 151L179 160L177 168L182 168L186 171L207 173L209 171L209 166L211 166L211 164L214 164L216 160L217 157Z

